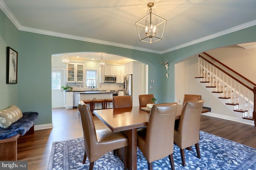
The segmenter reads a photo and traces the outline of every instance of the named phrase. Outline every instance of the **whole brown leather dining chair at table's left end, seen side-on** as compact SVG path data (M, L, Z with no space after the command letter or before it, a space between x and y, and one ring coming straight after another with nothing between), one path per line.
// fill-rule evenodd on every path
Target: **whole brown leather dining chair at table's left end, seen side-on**
M84 132L84 160L88 157L90 162L89 169L92 170L94 161L111 150L122 148L124 151L124 169L127 167L127 138L120 132L112 132L109 128L95 130L92 113L83 101L78 103L78 111L82 130ZM115 153L115 152L114 152Z

